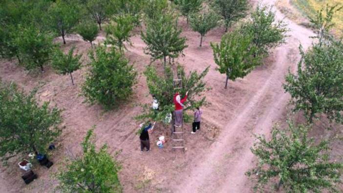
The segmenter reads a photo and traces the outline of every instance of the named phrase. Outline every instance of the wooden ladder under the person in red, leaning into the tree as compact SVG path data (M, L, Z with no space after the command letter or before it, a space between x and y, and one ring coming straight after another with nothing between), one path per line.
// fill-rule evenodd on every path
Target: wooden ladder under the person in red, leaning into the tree
M173 85L174 90L181 89L182 79L180 78L174 79L172 85ZM183 125L178 126L178 127L175 126L174 114L172 114L172 149L173 150L182 149L183 152L186 151Z

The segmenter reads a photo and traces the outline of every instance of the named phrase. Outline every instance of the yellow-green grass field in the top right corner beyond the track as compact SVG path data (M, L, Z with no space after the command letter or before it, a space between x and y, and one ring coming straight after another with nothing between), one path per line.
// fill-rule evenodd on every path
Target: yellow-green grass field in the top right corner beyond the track
M291 0L291 3L297 7L300 12L306 17L313 17L317 10L326 8L326 4L343 5L342 0ZM336 12L333 18L333 22L336 24L332 33L340 37L343 35L343 10Z

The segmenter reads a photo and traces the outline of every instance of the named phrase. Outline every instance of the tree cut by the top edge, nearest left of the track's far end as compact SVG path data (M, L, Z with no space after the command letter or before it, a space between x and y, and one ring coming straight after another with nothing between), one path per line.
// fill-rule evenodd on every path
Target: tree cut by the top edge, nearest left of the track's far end
M225 32L232 22L244 18L249 9L248 0L213 0L211 5L223 18Z

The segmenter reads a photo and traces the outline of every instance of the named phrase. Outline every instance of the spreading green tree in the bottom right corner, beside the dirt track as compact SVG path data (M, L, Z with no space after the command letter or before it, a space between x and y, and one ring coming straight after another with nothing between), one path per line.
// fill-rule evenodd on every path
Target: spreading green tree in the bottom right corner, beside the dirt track
M289 193L339 192L335 185L341 181L342 163L329 160L327 141L315 145L309 138L308 127L289 123L290 133L275 126L271 139L257 136L251 151L257 156L257 167L246 172L256 181L255 190L264 192L268 182L278 180L276 189L283 185Z

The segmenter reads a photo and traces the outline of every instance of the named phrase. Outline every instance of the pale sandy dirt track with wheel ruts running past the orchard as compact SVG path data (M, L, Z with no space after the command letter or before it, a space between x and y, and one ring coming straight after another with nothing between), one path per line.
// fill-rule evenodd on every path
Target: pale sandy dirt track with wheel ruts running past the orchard
M259 2L273 5L275 0ZM285 19L278 10L276 11L277 18L289 23L291 31L288 33L290 37L286 44L274 51L276 61L272 64L272 71L268 77L264 77L265 81L258 86L257 93L226 124L219 136L219 142L212 144L206 157L200 160L190 173L185 172L184 177L180 177L182 182L175 184L176 192L251 191L250 182L244 175L244 172L253 166L254 161L250 151L254 143L251 133L267 134L273 122L283 117L289 100L289 95L285 94L281 87L284 75L288 67L292 70L296 67L296 60L292 60L292 57L299 58L299 43L306 49L312 42L308 37L313 35L310 30ZM294 53L297 54L294 56Z

